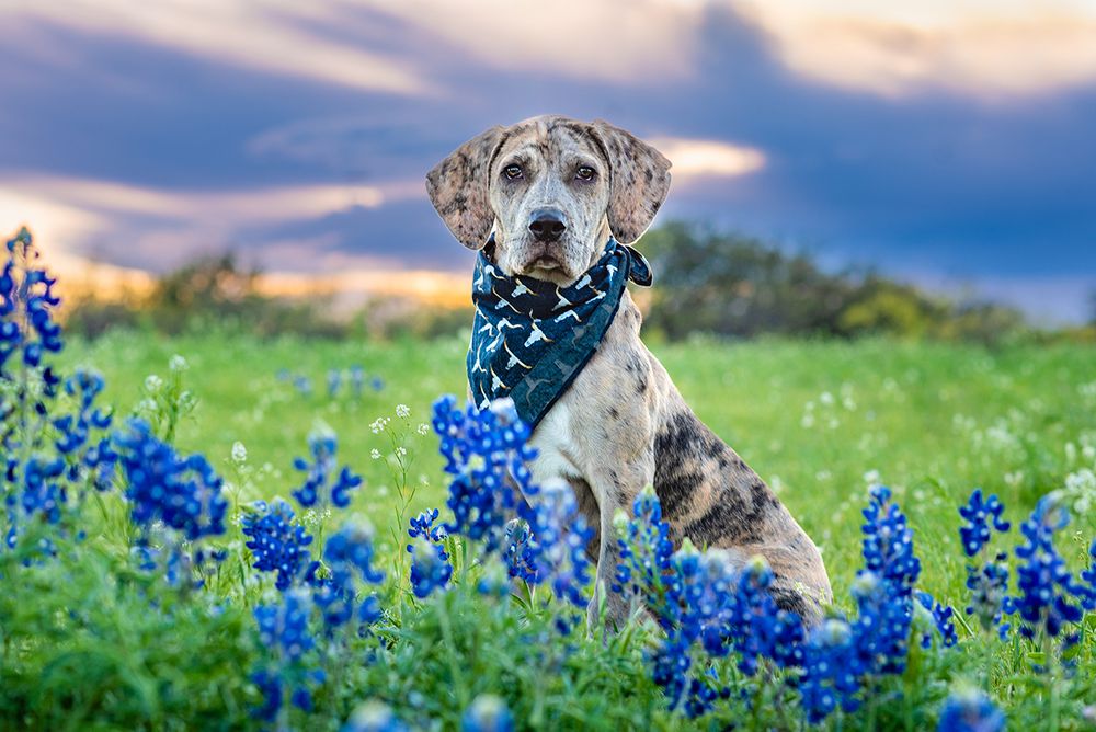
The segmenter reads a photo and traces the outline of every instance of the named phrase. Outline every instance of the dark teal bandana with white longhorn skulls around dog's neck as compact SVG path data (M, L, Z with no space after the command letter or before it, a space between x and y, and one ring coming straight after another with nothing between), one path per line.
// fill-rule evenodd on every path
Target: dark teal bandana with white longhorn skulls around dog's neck
M597 350L628 281L651 284L643 255L615 239L568 287L505 275L480 251L472 281L472 341L468 384L484 408L510 397L518 416L536 427Z

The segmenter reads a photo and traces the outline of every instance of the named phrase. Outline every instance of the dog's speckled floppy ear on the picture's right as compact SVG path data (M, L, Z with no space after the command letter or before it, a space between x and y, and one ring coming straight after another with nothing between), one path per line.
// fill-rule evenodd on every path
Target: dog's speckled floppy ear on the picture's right
M603 119L593 124L609 158L609 229L617 241L630 244L651 226L670 193L665 156L635 135Z

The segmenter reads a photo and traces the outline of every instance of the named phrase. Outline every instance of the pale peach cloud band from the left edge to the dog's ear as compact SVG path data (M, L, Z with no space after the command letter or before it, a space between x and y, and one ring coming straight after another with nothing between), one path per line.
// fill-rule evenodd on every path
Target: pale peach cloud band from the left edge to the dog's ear
M354 210L423 197L420 181L381 185L311 184L256 186L246 190L170 190L114 181L33 173L0 174L0 222L25 222L38 240L59 253L105 259L128 266L162 270L198 253L261 243L254 259L276 261L287 242L255 241L255 231L300 226ZM61 244L60 242L64 242ZM307 260L343 266L324 259L338 238L298 236L296 263ZM266 245L270 250L266 250ZM376 260L358 260L357 264ZM398 266L390 260L389 266ZM316 268L304 267L302 268Z

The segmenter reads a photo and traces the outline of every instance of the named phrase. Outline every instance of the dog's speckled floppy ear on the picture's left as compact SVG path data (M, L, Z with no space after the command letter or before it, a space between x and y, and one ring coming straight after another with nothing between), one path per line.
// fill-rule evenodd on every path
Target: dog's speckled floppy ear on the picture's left
M492 127L461 145L426 173L426 193L437 215L468 249L482 249L494 224L488 176L504 138L505 128Z

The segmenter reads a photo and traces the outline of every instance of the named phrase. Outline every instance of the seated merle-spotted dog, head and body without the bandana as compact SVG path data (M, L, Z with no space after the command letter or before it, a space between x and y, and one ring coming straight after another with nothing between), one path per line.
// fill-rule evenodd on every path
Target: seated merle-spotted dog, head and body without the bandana
M670 190L670 161L608 123L562 116L496 126L426 175L430 199L453 236L521 282L574 285L606 242L638 240ZM477 321L478 322L478 321ZM563 319L563 322L568 322ZM818 622L832 599L822 556L766 483L685 403L640 340L641 314L624 290L596 351L530 437L534 479L562 479L594 529L591 622L619 627L629 613L606 594L619 559L614 516L653 485L675 547L688 537L744 564L773 569L776 604Z

